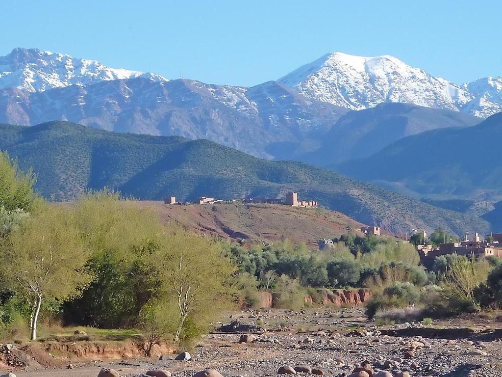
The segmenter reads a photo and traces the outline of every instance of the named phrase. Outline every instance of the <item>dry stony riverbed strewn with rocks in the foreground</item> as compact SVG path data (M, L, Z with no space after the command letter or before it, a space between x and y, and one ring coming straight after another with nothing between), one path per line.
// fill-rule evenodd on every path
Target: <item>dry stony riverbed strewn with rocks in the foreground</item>
M67 369L65 357L55 355L52 365L38 370L33 366L18 367L13 372L18 377L95 377L102 367L108 367L121 376L133 377L161 368L174 376L191 377L199 370L213 368L226 377L250 377L277 375L284 365L306 365L322 370L324 375L346 376L357 366L369 363L369 374L388 370L394 376L406 375L400 374L403 372L417 377L502 376L502 324L496 317L471 315L430 326L376 326L366 320L362 308L322 308L236 312L223 324L232 321L244 328L226 328L226 332L214 331L205 336L189 350L191 361L176 361L176 353L170 353L162 360L72 360L73 368ZM255 331L256 326L265 332ZM253 333L256 339L241 343L243 333Z

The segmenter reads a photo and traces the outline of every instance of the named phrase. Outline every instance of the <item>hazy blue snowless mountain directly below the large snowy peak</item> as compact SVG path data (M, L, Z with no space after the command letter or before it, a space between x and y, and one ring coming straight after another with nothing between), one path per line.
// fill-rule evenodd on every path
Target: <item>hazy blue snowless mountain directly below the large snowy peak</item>
M473 126L481 121L480 118L451 110L398 103L380 104L345 114L323 137L321 148L301 158L326 166L368 157L406 136L439 128Z

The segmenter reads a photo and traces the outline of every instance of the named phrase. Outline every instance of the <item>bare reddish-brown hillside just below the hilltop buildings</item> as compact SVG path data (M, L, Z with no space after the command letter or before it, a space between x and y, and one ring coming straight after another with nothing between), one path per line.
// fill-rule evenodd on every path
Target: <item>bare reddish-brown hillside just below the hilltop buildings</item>
M314 247L319 238L334 238L359 231L362 224L335 211L292 208L272 204L216 204L164 206L164 202L140 201L152 206L165 222L176 222L217 237L233 240L277 241L287 238Z

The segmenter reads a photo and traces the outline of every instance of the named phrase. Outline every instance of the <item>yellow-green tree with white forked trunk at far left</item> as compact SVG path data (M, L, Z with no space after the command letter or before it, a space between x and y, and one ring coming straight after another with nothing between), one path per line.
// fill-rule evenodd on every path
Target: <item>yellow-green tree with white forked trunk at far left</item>
M87 261L73 214L61 207L43 207L2 245L0 271L7 286L30 307L31 339L44 300L63 301L88 281Z

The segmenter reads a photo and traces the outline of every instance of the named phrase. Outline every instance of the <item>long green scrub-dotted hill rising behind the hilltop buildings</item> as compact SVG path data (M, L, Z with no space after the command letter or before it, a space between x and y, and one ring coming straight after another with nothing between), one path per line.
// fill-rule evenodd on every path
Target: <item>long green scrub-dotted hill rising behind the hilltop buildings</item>
M478 217L439 209L324 168L258 159L207 140L110 133L67 122L0 126L0 149L38 173L45 197L72 199L114 187L140 199L199 195L277 197L290 190L364 224L396 233L442 226L456 234L489 231Z

